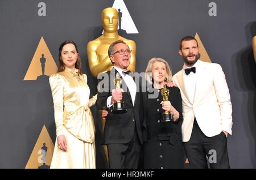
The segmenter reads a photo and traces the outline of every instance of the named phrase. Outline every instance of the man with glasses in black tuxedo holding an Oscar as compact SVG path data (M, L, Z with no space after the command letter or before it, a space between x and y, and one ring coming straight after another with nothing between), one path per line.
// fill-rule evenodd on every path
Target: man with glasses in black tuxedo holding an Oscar
M108 113L103 135L103 144L108 146L109 168L138 168L142 145L143 107L141 85L136 84L127 67L130 65L131 50L122 40L109 46L108 54L114 67L102 74L102 82L98 86L98 109L111 109L115 101L124 102L126 113ZM115 89L113 80L118 72L122 78L123 89ZM127 87L127 91L124 87ZM102 92L102 90L104 91ZM140 112L141 110L141 112Z

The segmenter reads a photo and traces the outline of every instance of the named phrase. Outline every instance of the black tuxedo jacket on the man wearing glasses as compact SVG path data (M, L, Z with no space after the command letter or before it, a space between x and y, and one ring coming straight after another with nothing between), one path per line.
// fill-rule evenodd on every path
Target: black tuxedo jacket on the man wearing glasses
M111 72L111 76L110 76ZM113 79L117 70L112 70L102 74L104 79L101 82L105 82L104 85L101 83L98 85L98 97L96 105L98 109L107 109L106 101L109 96L112 96L112 89L114 88ZM120 75L121 76L121 75ZM107 78L107 79L105 79ZM125 81L122 80L122 86L124 87ZM102 87L100 87L102 86ZM106 87L107 86L107 87ZM138 86L138 85L137 85ZM127 87L127 86L126 86ZM105 89L105 92L101 90ZM138 88L141 90L141 83L137 87L137 93L135 96L135 102L131 100L130 92L123 93L123 102L127 112L124 114L113 114L108 110L108 116L106 117L106 123L104 128L104 135L102 144L126 144L133 138L134 132L137 131L139 141L142 143L142 120L143 119L143 102L142 93L138 92ZM128 89L128 88L127 88ZM125 90L125 89L124 89Z

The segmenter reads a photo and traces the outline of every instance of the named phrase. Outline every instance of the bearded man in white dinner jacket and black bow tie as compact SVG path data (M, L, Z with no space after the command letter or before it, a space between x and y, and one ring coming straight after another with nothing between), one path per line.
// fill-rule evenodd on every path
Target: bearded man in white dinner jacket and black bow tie
M232 134L232 104L220 65L200 61L191 36L180 41L185 63L172 78L183 104L182 136L191 168L229 168L227 137Z

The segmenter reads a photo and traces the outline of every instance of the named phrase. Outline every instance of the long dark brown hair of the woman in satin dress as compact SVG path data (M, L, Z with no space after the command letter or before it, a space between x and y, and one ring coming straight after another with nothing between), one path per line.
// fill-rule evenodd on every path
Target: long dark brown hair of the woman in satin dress
M67 44L73 44L76 48L76 52L79 53L78 49L77 49L77 45L75 42L73 41L64 41L61 45L60 45L60 48L59 48L59 67L58 67L58 72L62 72L65 70L65 65L64 65L64 62L61 58L61 51L63 49L63 46L67 45ZM77 56L77 60L76 60L76 64L75 64L75 68L77 68L79 70L79 74L82 75L82 62L81 62L81 58L78 54Z

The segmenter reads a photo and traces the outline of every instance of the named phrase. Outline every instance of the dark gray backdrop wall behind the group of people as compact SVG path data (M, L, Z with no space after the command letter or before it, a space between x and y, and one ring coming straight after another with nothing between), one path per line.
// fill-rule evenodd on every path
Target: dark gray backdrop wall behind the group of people
M38 16L38 3L46 3L46 16ZM88 68L86 45L101 35L101 11L112 0L0 0L0 168L24 168L45 124L53 143L55 123L48 80L23 81L43 36L57 63L61 42L77 43L83 72L96 92L97 80ZM123 35L137 43L138 72L152 57L166 59L173 74L183 59L179 41L197 32L212 62L219 63L229 85L233 104L233 135L228 137L231 168L256 168L256 66L251 38L256 35L255 0L125 0L139 34ZM217 16L209 16L210 2ZM97 127L101 123L92 108ZM97 143L97 168L105 168Z

